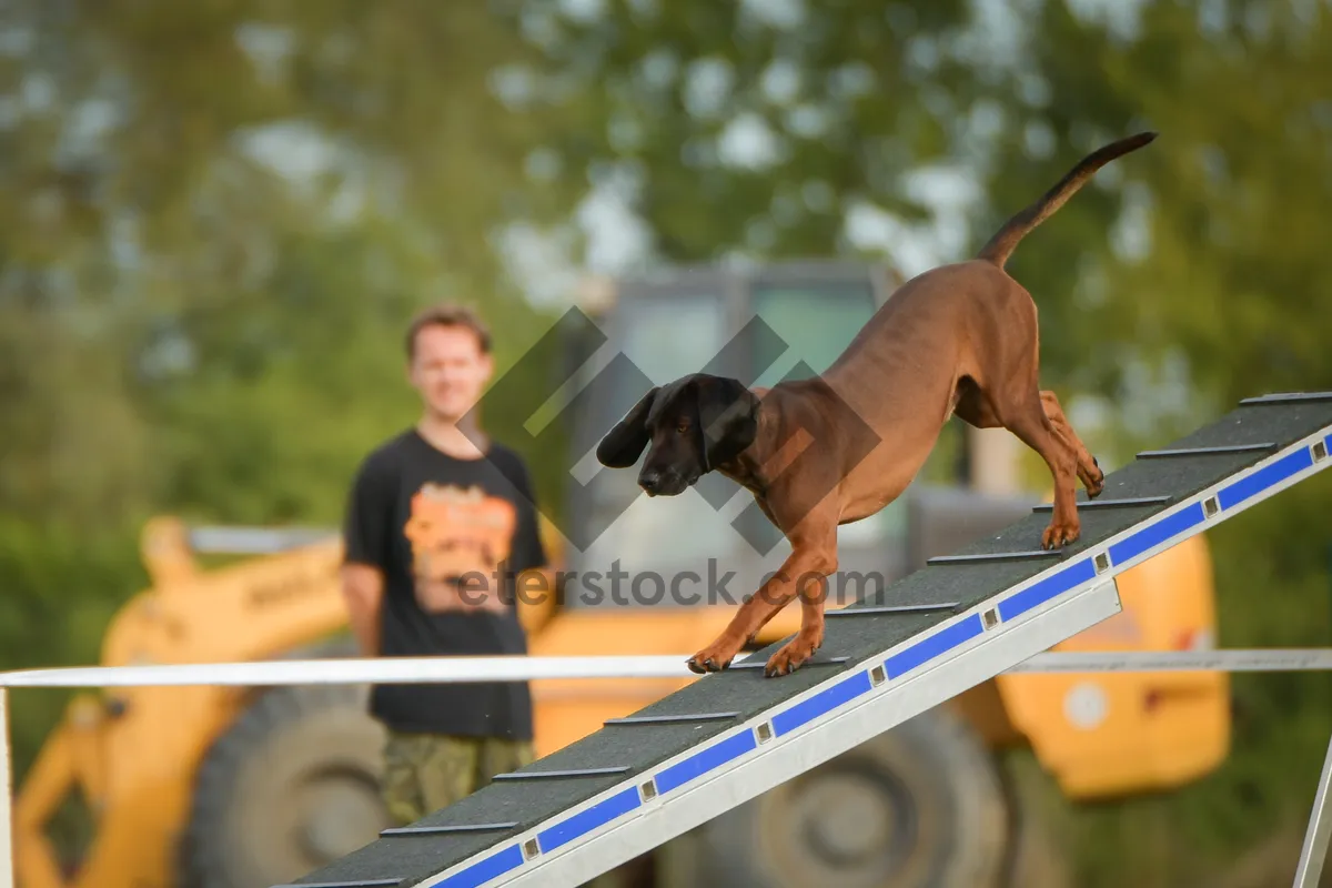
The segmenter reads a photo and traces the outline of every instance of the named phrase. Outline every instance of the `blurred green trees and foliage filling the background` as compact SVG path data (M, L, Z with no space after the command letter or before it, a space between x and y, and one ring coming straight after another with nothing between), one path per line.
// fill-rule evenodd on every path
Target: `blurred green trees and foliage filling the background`
M1319 0L11 0L0 77L3 668L96 662L152 514L337 522L414 418L426 302L482 306L502 373L586 272L911 274L1139 129L1008 266L1103 465L1332 389ZM558 454L525 455L558 507ZM1213 533L1221 646L1332 640L1328 493ZM1332 679L1233 692L1217 774L1064 812L1078 884L1289 867ZM19 779L63 702L15 695Z

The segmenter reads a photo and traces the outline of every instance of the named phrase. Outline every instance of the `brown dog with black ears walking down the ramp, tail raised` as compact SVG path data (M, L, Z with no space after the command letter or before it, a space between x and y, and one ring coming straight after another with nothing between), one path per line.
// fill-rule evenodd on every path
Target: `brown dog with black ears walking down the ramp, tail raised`
M823 643L838 525L899 497L954 414L980 429L1008 429L1040 454L1055 486L1040 545L1078 539L1076 482L1095 497L1104 474L1054 393L1040 389L1036 305L1004 262L1100 166L1155 137L1140 133L1087 156L1008 220L975 260L903 284L821 378L750 390L735 379L694 374L654 387L606 434L597 458L610 467L633 466L651 442L639 473L649 495L679 494L703 473L719 471L750 490L791 543L782 568L690 658L693 671L730 666L795 596L801 630L765 675L789 674L807 660Z

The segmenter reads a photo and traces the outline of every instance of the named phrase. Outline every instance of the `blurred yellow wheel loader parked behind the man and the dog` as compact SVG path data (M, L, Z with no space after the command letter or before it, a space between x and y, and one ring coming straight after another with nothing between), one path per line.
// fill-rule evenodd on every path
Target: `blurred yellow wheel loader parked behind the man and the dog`
M677 332L690 320L701 329L718 325L690 349L725 342L734 318L749 317L726 300L750 293L753 281L722 286L698 276L687 280L687 288L665 300L630 289L627 298L598 310L605 329L623 337L646 324L641 329L650 332L651 312L661 308L673 313ZM872 296L868 308L838 302L847 294L859 298L864 286L872 293L867 282L874 273L862 266L787 269L765 280L777 282L777 296L766 314L758 305L759 316L783 334L793 324L805 334L825 332L822 342L814 338L817 353L803 355L815 371L872 310ZM673 286L670 280L657 285ZM669 366L654 370L670 373ZM589 491L579 495L593 502L574 510L583 515L575 521L591 521L587 515L595 513L599 494ZM1031 507L1030 497L916 485L880 522L848 535L846 558L878 559L891 582ZM655 551L635 543L661 533L655 515L654 509L626 514L619 530L598 545L626 556ZM549 523L545 535L557 568L577 568L591 556L566 556L565 535ZM202 566L201 553L228 550L248 556ZM337 534L189 527L163 517L144 529L143 558L152 587L112 622L101 652L105 666L353 652L338 588ZM746 558L734 554L741 570ZM679 566L659 568L673 564ZM1158 555L1118 583L1123 612L1059 650L1211 643L1216 614L1205 538ZM737 588L747 592L742 586ZM535 655L687 654L733 614L726 604L666 604L569 596L519 602ZM755 644L789 636L798 622L799 610L787 608ZM690 680L697 679L534 682L538 754ZM366 715L366 690L141 687L76 698L17 792L20 888L268 888L373 840L388 820L376 789L381 732ZM1227 754L1228 719L1224 674L1000 675L667 843L650 861L626 865L619 875L631 881L635 868L654 868L651 884L658 887L924 888L950 884L944 876L958 867L974 873L967 884L975 888L1054 888L1054 879L1015 871L1014 859L1027 853L1018 849L1035 833L998 775L999 750L1028 744L1070 797L1104 799L1169 789L1207 774ZM88 805L95 831L76 860L61 863L45 829L73 793Z

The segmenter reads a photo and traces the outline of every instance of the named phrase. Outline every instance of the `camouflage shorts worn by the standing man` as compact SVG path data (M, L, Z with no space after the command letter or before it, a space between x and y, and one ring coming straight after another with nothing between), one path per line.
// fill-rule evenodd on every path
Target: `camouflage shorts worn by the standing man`
M384 748L384 801L405 827L534 758L525 740L390 731Z

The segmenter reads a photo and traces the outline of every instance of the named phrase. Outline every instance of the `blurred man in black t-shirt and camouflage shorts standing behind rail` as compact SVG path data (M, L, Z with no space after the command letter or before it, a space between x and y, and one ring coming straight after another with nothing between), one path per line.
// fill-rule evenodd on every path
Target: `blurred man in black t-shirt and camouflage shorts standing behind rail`
M514 576L546 556L527 466L473 423L490 334L465 308L434 308L408 329L406 357L424 413L365 458L348 503L352 628L366 656L526 654ZM404 825L533 759L526 683L376 686L370 712Z

